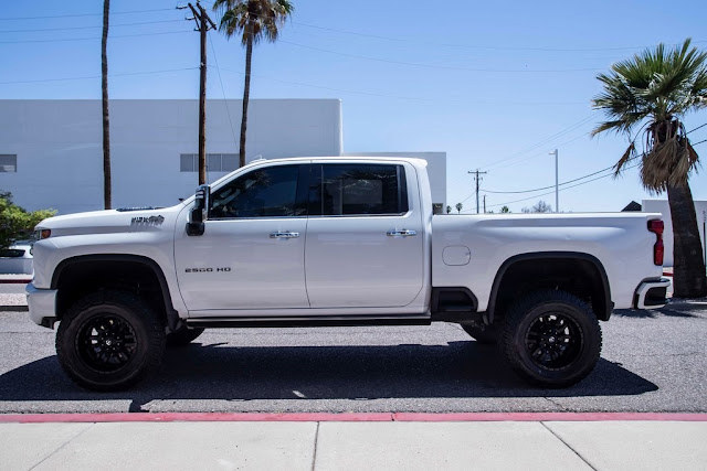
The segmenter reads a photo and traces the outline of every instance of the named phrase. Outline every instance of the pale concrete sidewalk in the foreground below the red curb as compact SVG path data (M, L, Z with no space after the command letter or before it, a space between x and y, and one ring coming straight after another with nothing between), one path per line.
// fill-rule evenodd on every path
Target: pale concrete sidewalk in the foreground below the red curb
M707 421L0 424L0 468L706 469Z

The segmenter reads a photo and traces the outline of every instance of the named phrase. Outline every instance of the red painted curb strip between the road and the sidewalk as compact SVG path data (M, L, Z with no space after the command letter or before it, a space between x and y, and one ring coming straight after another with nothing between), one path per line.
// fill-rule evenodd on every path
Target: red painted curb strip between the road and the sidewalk
M372 414L261 414L261 413L116 413L116 414L4 414L0 422L178 422L178 421L707 421L707 414L663 413L372 413Z

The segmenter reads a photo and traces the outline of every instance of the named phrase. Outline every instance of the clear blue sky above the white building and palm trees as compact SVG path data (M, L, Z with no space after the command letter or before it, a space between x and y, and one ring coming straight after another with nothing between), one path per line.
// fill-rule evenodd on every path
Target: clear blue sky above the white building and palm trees
M99 98L102 4L4 4L0 98ZM198 97L199 38L176 4L113 0L112 98ZM210 9L211 2L203 4ZM256 46L251 97L341 98L348 152L446 151L447 203L463 201L463 212L475 212L467 171L476 168L488 171L482 194L489 210L507 203L519 212L540 199L555 205L553 193L544 195L551 189L490 191L555 184L548 152L556 148L560 182L610 167L627 142L588 136L602 119L590 107L600 92L597 74L658 42L693 38L707 49L704 1L294 4L281 41ZM243 49L218 32L210 38L210 65L218 62L221 79L211 68L209 98L241 98ZM685 119L688 130L705 122L707 110ZM689 137L707 139L707 126ZM707 154L707 142L696 150ZM569 188L591 179L564 185L560 210L619 211L652 197L636 172L618 180L603 172L587 184ZM690 185L696 200L707 200L704 168Z

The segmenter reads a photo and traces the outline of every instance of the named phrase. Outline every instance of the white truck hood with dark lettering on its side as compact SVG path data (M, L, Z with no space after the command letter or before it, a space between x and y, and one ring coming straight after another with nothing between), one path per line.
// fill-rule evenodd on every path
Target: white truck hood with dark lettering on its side
M182 204L160 208L125 208L66 214L42 221L35 229L51 229L51 237L152 232L171 229Z

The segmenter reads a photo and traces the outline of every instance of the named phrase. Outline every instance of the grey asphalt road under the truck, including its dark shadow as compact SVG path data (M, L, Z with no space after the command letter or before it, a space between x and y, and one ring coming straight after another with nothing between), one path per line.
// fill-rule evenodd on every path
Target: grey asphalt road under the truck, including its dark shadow
M707 301L602 329L597 368L568 389L527 386L495 347L436 323L211 330L134 390L97 394L64 376L53 331L0 312L0 413L707 411Z

